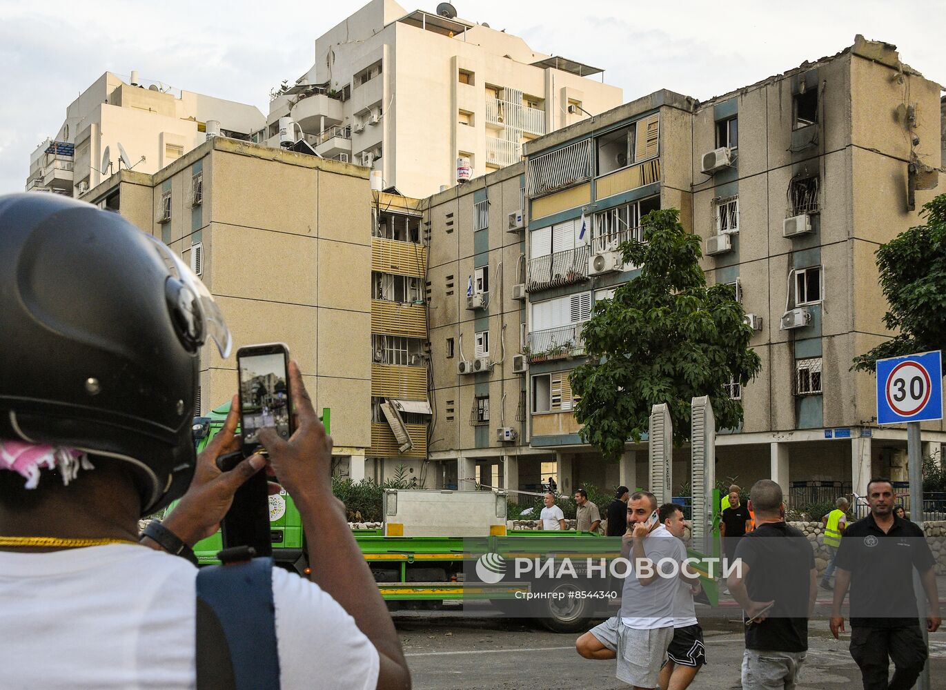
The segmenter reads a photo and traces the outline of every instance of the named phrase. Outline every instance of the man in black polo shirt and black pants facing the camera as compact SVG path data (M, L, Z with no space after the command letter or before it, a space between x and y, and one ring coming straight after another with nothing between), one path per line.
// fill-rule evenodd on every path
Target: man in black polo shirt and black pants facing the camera
M940 624L935 560L920 527L893 514L890 480L870 480L867 504L870 514L845 530L834 559L831 631L836 638L844 630L841 604L850 585L850 656L861 668L865 690L908 690L927 656L913 569L930 604L926 629L934 632Z

